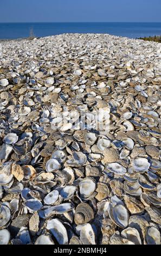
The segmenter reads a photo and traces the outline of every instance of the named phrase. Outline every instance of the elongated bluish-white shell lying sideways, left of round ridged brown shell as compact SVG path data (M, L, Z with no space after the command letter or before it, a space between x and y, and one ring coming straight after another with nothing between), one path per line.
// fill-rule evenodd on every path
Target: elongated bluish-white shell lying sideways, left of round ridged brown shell
M72 204L69 204L69 203L50 206L49 208L44 210L44 216L50 217L54 214L64 214L65 212L72 210L72 208L73 208Z

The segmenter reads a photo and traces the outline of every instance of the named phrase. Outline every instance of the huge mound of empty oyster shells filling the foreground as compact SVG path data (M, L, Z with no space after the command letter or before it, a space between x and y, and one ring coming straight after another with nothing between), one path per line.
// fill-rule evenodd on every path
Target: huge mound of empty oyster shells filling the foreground
M0 244L160 244L161 44L3 41ZM110 108L110 130L59 113ZM75 120L76 121L76 120Z

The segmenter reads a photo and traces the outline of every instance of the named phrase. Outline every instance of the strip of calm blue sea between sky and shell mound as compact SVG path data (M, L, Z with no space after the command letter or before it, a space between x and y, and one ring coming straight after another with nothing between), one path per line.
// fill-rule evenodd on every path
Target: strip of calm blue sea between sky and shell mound
M25 38L62 33L107 33L128 38L161 35L161 23L0 23L0 39Z

